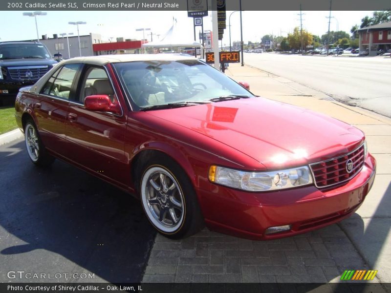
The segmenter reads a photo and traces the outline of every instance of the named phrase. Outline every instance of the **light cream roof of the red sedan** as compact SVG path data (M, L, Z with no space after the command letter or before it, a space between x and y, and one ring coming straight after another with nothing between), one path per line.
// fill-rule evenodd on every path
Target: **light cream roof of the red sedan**
M94 65L105 65L107 63L133 62L133 61L179 61L197 60L193 56L183 56L181 54L119 54L119 55L99 55L88 57L75 57L62 62L67 63L89 63Z

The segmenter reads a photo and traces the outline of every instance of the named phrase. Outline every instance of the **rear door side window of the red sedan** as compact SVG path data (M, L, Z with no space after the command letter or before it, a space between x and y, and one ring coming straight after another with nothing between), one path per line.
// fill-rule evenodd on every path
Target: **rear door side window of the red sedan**
M43 86L43 94L69 99L70 89L80 64L66 64L56 71Z

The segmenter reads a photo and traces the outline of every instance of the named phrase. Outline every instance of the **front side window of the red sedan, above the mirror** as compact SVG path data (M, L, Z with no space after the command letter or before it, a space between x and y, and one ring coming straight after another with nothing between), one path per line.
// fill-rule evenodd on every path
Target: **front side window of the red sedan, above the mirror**
M91 66L84 75L79 102L84 104L84 99L92 95L108 95L111 102L117 102L109 77L103 68Z

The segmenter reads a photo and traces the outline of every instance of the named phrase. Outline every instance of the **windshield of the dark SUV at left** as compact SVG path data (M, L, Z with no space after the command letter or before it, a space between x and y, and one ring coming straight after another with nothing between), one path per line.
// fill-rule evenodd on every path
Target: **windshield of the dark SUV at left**
M13 43L0 45L0 60L27 58L50 59L51 56L42 44Z

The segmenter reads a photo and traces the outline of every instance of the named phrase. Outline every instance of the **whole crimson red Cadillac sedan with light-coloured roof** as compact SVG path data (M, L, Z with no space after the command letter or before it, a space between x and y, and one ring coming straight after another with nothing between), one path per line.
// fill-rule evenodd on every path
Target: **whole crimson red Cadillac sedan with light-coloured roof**
M272 239L358 209L375 174L364 134L246 87L192 57L74 58L20 90L16 119L34 164L127 190L167 237Z

